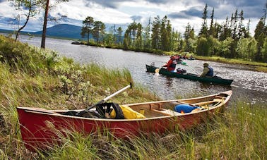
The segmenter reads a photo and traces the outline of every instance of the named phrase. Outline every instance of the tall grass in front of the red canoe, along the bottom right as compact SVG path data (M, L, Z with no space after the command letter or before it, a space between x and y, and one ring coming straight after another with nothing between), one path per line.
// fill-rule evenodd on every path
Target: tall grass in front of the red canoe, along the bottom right
M101 135L64 139L46 159L266 159L266 108L242 101L198 127L130 140ZM77 133L76 133L77 134Z

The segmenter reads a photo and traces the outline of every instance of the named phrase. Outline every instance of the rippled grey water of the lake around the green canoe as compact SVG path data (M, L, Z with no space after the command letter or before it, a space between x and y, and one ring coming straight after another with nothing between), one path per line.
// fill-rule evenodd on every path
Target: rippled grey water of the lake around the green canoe
M21 37L20 41L40 47L40 37ZM130 70L133 81L142 84L162 99L174 99L176 95L213 94L232 90L232 102L237 99L247 99L251 103L260 102L266 106L267 102L267 73L249 70L248 66L232 65L208 61L214 72L222 78L234 79L231 86L210 85L201 82L167 78L162 75L146 73L146 64L155 62L155 66L162 66L169 60L169 56L157 56L134 51L119 49L105 49L73 45L72 41L61 39L46 40L46 48L59 52L61 56L73 58L82 64L98 63L107 68L127 68ZM204 61L185 61L188 66L179 66L189 73L201 73Z

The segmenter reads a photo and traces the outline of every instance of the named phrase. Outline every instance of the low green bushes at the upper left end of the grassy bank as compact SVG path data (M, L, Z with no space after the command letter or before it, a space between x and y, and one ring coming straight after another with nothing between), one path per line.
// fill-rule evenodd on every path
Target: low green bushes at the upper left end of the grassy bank
M40 54L41 53L41 54ZM0 61L7 63L12 70L23 70L30 74L51 70L58 61L54 51L48 52L15 42L14 39L0 35Z

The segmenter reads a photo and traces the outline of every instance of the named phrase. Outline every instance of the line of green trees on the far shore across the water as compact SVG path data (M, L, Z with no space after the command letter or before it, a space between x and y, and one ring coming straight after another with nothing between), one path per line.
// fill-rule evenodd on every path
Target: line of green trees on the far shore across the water
M110 27L105 31L105 24L94 21L88 16L83 20L81 36L87 37L88 43L106 45L135 51L161 53L162 51L191 52L199 56L221 56L230 59L267 62L267 26L266 8L256 25L254 37L249 34L249 23L244 24L244 11L232 13L230 18L219 24L214 20L214 8L208 15L208 6L203 8L202 25L198 35L188 23L182 34L172 28L167 16L156 16L148 25L129 24L122 35L121 27ZM208 24L208 18L210 23Z

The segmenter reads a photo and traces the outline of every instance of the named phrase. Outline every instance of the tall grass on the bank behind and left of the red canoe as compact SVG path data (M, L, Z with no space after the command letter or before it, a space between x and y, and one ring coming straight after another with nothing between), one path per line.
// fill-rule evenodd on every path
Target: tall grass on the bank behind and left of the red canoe
M20 140L16 106L45 109L84 109L131 82L129 70L81 66L54 51L30 47L0 35L0 153L1 159L30 156ZM114 101L144 98L136 87ZM148 94L150 99L153 95ZM125 97L133 96L127 99ZM155 96L154 96L155 97Z

